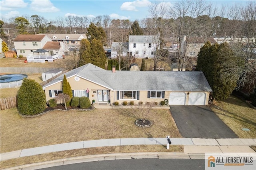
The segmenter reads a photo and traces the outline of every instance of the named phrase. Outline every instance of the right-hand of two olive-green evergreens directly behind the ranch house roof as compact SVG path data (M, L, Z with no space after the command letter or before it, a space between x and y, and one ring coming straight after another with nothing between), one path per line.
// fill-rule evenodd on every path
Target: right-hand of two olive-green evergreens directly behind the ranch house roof
M93 39L91 42L92 64L105 69L106 54L100 40Z

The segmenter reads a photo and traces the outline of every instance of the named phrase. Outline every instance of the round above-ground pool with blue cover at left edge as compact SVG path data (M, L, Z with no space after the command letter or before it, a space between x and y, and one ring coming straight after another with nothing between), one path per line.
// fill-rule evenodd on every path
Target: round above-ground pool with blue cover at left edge
M0 88L19 87L23 79L27 78L26 74L5 74L0 75Z

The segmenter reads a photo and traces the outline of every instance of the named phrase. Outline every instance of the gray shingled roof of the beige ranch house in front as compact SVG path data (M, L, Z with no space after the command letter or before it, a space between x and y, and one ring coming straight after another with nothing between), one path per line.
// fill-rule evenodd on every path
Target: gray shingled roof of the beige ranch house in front
M69 71L66 77L78 75L113 90L212 91L202 71L112 71L86 64ZM44 85L63 80L64 75ZM43 88L44 88L43 87Z

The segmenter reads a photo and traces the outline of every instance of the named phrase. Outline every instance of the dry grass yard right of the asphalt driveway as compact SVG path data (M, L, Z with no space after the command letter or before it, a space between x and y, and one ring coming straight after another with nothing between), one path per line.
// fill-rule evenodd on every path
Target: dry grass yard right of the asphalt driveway
M256 138L256 110L231 95L224 101L216 101L212 110L239 138ZM242 128L249 128L244 131Z

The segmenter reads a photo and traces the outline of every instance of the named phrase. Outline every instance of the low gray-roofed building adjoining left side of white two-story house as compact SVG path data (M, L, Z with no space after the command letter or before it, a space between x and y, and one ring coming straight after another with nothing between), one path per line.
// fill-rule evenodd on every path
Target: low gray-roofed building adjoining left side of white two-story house
M128 56L129 55L129 43L128 42L112 42L111 44L111 58L119 56Z

